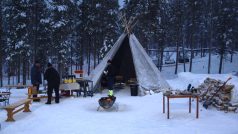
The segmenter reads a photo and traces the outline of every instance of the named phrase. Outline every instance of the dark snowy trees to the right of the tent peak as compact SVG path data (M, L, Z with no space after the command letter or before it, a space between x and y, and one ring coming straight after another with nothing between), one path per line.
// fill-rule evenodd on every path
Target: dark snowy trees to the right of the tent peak
M121 9L127 16L135 16L138 23L134 33L146 49L159 48L158 55L163 55L167 46L188 48L190 55L189 71L192 72L194 52L200 49L200 55L217 52L220 57L221 73L224 56L237 51L237 1L224 0L159 0L125 1ZM155 8L154 8L155 7ZM153 10L153 11L152 11ZM152 13L153 12L153 13ZM158 32L159 31L159 32ZM163 43L165 42L165 43ZM155 47L158 44L158 47ZM183 49L184 50L184 49ZM188 50L187 50L188 51ZM177 55L177 60L178 60ZM209 56L211 57L211 56ZM226 56L227 57L227 56ZM158 60L162 61L161 56ZM211 58L208 60L210 73ZM159 67L161 66L158 65ZM175 74L178 65L175 66ZM185 71L184 64L184 71Z

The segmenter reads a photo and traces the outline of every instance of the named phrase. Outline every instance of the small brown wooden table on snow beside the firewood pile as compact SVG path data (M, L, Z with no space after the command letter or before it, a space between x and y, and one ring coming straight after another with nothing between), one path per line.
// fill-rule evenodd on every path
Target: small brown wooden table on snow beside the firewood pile
M191 113L191 98L196 99L196 118L199 117L199 96L198 95L165 95L163 94L163 113L165 113L165 97L167 97L167 118L169 119L169 99L176 99L176 98L189 98L189 113Z

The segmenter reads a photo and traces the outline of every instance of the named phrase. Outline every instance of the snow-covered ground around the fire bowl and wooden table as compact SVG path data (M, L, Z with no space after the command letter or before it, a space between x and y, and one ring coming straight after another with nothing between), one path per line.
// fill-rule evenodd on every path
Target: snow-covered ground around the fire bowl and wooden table
M209 75L224 80L228 75ZM181 73L168 80L173 88L195 87L207 75ZM233 76L231 83L237 84ZM26 98L26 89L12 89L11 103ZM15 122L5 122L6 112L0 110L1 134L237 134L237 113L224 113L199 106L200 117L195 117L195 102L188 113L188 99L171 100L170 119L162 113L162 93L147 96L130 96L129 89L116 92L118 111L97 111L98 99L106 96L63 98L60 104L33 103L31 113L17 113Z

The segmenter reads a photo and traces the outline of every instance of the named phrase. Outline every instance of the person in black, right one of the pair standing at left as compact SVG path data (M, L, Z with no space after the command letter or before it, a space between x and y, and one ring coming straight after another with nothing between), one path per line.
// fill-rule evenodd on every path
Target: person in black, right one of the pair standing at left
M48 63L48 68L44 73L44 79L47 80L48 83L48 100L46 104L51 104L51 97L53 90L55 91L55 103L59 103L59 85L60 85L60 76L59 73L53 68L51 63Z

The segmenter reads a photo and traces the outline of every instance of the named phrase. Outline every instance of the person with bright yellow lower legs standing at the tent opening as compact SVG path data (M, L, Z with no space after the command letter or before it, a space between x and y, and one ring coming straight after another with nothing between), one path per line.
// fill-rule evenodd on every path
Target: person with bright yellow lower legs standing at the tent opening
M107 86L108 86L108 89L109 89L108 95L109 96L113 96L113 85L114 85L115 70L114 70L114 67L112 65L112 61L111 60L108 60L107 64L108 65L107 65L107 68L104 71L104 73L107 76Z

